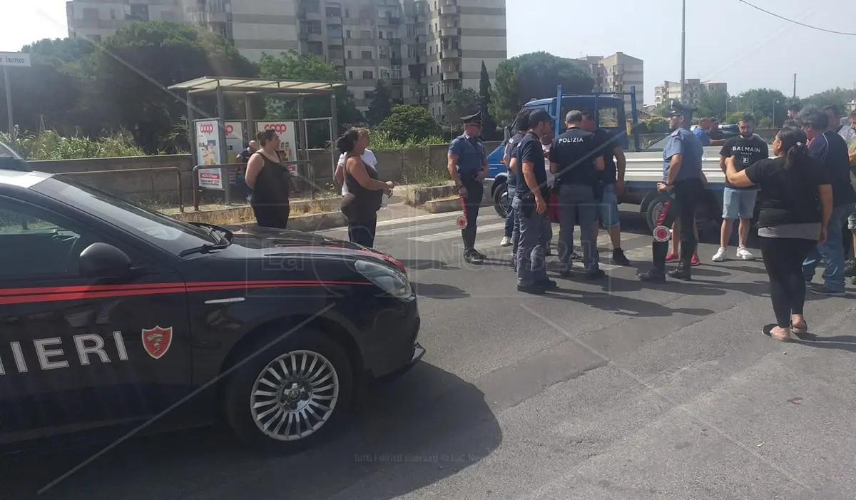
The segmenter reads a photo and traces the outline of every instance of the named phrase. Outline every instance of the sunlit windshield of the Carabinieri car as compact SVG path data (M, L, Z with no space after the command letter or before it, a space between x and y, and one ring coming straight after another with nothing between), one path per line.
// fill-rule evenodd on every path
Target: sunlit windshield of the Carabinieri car
M110 193L68 178L51 177L39 182L32 189L81 211L86 211L92 217L98 217L116 225L175 255L187 248L220 242L216 235L211 235L211 232L198 226L182 223L158 211L134 205Z

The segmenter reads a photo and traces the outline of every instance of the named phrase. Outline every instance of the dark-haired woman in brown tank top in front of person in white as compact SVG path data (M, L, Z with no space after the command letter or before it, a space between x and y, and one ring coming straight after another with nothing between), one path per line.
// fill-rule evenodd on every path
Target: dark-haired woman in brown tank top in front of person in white
M383 202L383 193L392 196L392 182L377 179L377 169L367 164L362 155L368 146L368 134L350 128L336 147L345 155L345 186L348 193L342 197L342 213L348 217L348 240L363 247L374 246L377 229L377 211Z

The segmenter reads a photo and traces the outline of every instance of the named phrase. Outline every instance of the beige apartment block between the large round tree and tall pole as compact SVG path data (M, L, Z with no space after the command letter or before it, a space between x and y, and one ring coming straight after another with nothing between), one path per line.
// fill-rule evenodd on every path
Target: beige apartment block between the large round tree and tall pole
M578 60L585 62L586 70L594 80L594 92L630 92L630 87L636 86L637 106L641 107L645 102L645 63L642 59L615 52L609 57L586 56ZM632 110L629 95L624 96L624 109L627 113Z

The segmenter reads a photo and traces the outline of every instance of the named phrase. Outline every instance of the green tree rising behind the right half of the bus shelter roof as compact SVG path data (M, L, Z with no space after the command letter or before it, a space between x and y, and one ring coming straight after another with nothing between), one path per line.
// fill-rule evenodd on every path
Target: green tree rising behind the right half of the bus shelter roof
M297 51L281 52L279 56L263 54L259 60L259 76L287 80L315 80L344 82L342 70L330 62L324 62L312 54L299 54ZM304 98L304 116L321 118L330 116L329 97ZM268 98L267 116L270 118L294 118L297 116L297 102L294 98ZM336 119L341 134L350 125L359 125L364 121L362 113L354 105L354 96L346 88L336 91ZM310 147L324 147L330 140L327 125L309 122L306 126Z

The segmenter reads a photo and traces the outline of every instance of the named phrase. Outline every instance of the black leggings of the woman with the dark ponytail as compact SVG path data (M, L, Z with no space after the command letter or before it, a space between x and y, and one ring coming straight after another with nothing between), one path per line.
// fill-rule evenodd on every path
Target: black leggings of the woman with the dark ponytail
M770 300L776 323L782 328L791 324L791 314L802 314L805 304L805 277L802 263L817 241L797 238L758 237L767 276L770 277Z

